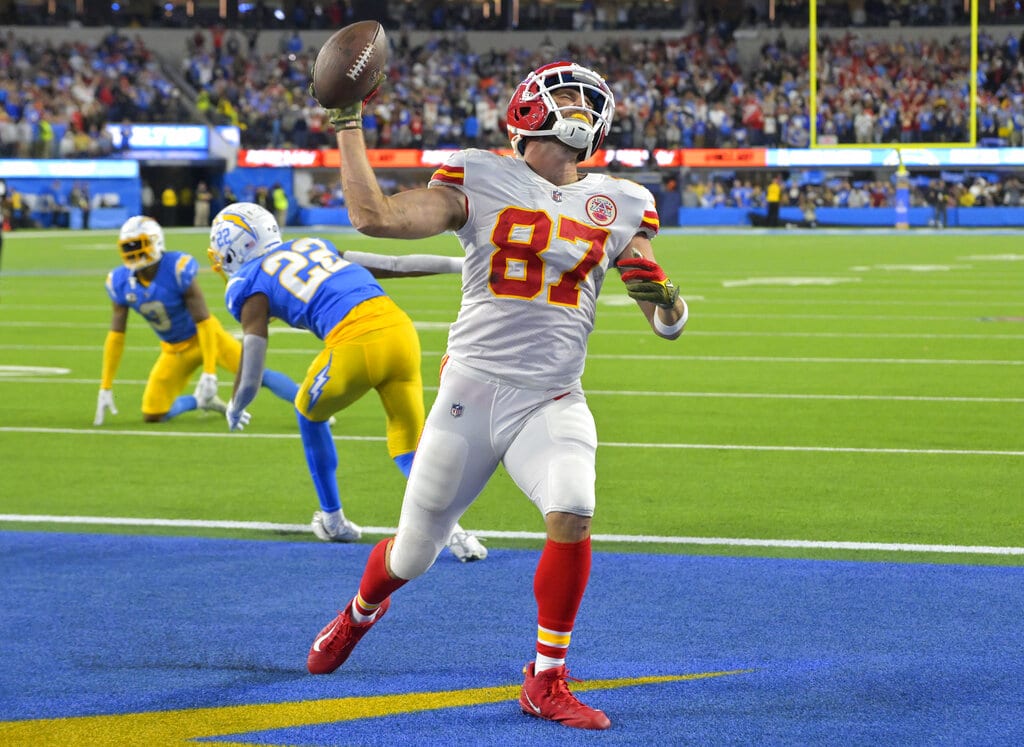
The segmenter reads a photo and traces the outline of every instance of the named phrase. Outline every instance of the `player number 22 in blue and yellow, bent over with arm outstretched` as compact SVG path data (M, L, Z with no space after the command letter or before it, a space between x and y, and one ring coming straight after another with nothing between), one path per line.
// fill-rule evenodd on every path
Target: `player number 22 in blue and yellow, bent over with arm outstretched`
M270 319L305 329L324 341L295 398L299 432L321 510L312 530L322 540L351 542L358 526L341 508L335 473L338 452L328 419L370 389L384 406L388 453L408 478L423 429L420 340L412 320L376 278L458 273L462 259L339 253L325 239L284 242L273 215L254 203L221 210L210 229L210 261L227 277L227 310L242 323L242 366L227 405L227 424L242 430L266 358ZM460 561L486 549L456 525L447 546Z

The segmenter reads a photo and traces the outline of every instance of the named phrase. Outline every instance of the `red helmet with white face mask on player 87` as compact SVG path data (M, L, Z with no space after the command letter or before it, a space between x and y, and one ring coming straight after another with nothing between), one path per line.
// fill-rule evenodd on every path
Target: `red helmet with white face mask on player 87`
M575 88L583 107L558 107L552 91ZM518 85L508 109L509 139L512 150L522 156L524 137L553 135L569 148L580 150L580 161L594 155L611 127L615 98L594 71L575 63L551 63L538 68ZM584 117L589 118L585 121Z

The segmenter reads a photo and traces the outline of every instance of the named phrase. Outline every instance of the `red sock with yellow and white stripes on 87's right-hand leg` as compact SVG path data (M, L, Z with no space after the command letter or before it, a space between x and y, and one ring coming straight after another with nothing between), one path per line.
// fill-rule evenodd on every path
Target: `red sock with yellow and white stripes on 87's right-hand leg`
M590 537L583 542L548 540L534 575L537 653L565 659L583 592L590 579Z

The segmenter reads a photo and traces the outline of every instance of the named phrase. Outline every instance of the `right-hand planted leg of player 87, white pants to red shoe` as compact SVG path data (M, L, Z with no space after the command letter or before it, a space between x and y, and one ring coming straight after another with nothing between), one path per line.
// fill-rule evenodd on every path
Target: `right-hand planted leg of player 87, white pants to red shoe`
M548 538L534 575L537 642L523 668L524 713L579 729L607 729L608 717L581 703L566 683L565 655L590 579L597 430L580 392L538 410L505 454L516 485L541 509Z

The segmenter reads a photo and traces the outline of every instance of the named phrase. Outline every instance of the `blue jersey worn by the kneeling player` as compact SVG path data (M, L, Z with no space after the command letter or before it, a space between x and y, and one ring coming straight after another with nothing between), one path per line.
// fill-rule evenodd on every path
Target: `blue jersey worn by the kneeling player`
M106 276L106 294L115 303L138 312L164 342L183 342L196 336L185 291L198 272L199 262L190 254L164 252L150 285L121 266Z

